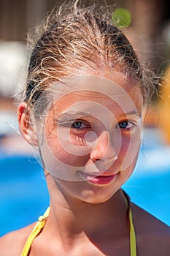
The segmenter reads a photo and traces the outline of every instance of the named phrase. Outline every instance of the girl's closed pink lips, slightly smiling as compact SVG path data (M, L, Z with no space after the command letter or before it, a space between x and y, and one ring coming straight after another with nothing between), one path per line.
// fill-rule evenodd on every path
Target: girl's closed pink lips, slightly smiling
M110 184L110 183L112 183L112 181L115 181L115 179L117 177L117 173L112 174L112 175L94 176L94 175L90 175L89 173L82 173L82 172L80 172L80 175L86 181L89 181L90 183L97 184L97 185L107 185L107 184Z

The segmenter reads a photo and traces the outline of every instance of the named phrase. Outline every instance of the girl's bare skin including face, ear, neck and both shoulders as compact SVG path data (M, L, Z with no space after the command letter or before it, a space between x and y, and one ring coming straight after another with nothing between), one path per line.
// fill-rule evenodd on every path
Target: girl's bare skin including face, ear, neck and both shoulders
M40 123L29 123L26 103L18 108L20 132L39 148L50 193L50 215L29 256L131 255L121 186L139 154L141 85L109 69L81 75L54 94ZM133 203L131 210L137 256L169 255L166 225ZM1 255L20 255L34 225L1 238Z

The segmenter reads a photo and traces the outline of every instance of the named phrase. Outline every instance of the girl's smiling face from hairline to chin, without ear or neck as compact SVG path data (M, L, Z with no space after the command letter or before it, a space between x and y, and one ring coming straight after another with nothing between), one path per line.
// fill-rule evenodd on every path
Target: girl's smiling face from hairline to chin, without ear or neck
M108 200L136 165L142 94L120 72L55 84L58 96L39 132L45 170L61 191L88 203Z

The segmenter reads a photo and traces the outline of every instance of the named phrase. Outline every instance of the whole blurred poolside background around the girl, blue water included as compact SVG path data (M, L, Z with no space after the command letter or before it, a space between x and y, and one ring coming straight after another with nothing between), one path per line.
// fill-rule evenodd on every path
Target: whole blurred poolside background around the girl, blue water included
M113 13L113 20L124 27L139 59L163 75L163 86L158 86L159 95L153 97L144 118L139 162L123 188L135 203L170 225L170 2L99 2L119 10ZM26 79L28 31L61 3L0 0L0 236L35 221L49 203L36 151L18 131L15 94L21 91Z

